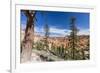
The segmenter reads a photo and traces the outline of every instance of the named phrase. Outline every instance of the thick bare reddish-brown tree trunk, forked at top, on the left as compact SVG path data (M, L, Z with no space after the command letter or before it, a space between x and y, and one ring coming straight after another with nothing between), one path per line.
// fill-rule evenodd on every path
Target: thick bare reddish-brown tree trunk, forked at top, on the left
M26 62L31 59L32 46L34 41L34 16L33 11L25 10L24 14L27 17L27 25L25 29L25 37L21 44L21 62Z

